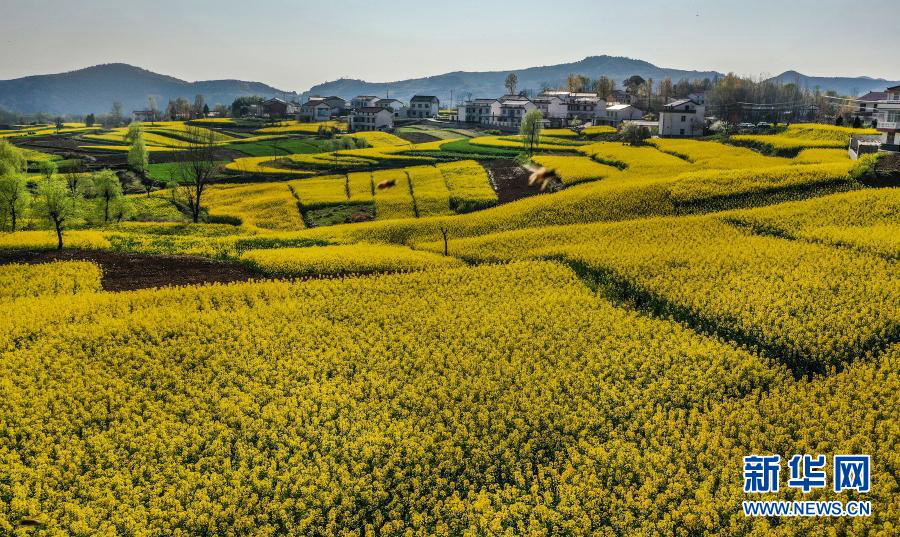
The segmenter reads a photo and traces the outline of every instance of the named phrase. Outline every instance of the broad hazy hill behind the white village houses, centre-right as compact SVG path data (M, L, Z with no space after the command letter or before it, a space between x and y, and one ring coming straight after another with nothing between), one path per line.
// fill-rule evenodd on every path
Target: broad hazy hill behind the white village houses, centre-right
M345 99L357 95L390 96L402 101L409 101L413 95L435 95L442 101L471 94L472 97L498 97L505 93L503 82L509 73L519 77L519 90L531 89L540 91L542 87L560 87L565 84L570 74L579 74L591 78L606 75L622 87L622 81L631 75L662 80L672 77L678 81L682 78L715 78L723 76L715 71L685 71L657 67L643 60L617 56L589 56L581 61L513 69L508 71L456 71L443 75L396 82L366 82L364 80L340 79L325 82L310 88L304 95L337 95Z

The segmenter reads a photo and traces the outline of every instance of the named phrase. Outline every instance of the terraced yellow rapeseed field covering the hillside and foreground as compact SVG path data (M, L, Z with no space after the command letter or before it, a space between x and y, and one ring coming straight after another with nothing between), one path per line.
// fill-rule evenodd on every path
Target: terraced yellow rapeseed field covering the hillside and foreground
M0 232L0 534L896 532L900 190L847 131L301 127L241 139L329 150L235 157L199 223L158 188L61 252L40 201ZM872 515L744 516L742 458L798 453L871 490L766 499Z

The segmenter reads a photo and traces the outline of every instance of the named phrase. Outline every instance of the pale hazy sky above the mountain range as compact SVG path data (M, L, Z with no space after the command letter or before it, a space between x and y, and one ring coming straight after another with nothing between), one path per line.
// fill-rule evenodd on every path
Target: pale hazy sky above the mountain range
M0 79L124 62L303 91L610 54L900 79L898 0L0 0Z

